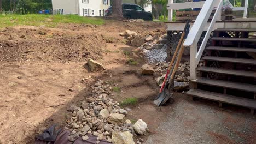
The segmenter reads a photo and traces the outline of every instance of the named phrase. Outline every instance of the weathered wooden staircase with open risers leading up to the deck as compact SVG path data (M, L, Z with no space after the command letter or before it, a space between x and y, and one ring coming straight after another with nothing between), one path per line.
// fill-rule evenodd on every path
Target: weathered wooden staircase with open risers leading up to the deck
M256 110L256 29L216 29L187 94Z

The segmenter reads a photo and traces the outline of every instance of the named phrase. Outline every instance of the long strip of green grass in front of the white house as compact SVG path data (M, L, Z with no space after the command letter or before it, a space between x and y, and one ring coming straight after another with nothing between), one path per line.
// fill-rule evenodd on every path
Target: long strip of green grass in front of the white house
M25 26L48 26L55 27L60 23L86 23L92 25L102 25L104 20L94 17L82 17L78 15L40 15L40 14L27 14L27 15L1 15L0 14L0 28L11 27L16 25Z

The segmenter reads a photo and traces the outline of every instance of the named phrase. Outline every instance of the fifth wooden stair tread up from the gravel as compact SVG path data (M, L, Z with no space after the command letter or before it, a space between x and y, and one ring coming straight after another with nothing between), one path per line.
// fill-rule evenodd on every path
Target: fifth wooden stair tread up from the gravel
M222 47L222 46L209 46L206 50L216 51L235 51L235 52L256 52L254 48L241 48L241 47Z

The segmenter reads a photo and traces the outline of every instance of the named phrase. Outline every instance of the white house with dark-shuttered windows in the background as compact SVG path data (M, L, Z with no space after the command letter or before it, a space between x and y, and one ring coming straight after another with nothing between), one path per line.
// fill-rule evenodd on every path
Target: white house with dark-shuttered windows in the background
M52 0L54 14L104 16L110 0Z

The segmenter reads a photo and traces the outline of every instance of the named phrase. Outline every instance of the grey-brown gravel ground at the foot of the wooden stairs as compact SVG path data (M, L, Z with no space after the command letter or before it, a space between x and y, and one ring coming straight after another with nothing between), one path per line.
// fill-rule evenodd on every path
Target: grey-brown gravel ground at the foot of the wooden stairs
M170 113L162 119L147 144L161 143L256 143L256 116L248 109L207 100L192 101L174 94Z

